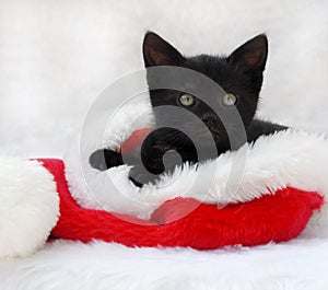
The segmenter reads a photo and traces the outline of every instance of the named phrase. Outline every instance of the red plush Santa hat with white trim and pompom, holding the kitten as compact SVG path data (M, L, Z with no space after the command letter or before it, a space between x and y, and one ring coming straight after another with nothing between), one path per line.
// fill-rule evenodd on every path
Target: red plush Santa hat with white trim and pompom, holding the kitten
M129 109L125 116L129 119ZM149 125L117 124L116 134L106 137L108 148L127 139L133 143L138 138L129 139L131 132ZM118 129L119 124L125 127ZM92 153L99 146L87 148ZM328 233L328 141L323 136L289 129L260 137L197 167L177 167L143 188L129 181L126 165L99 172L86 162L83 172L78 152L71 150L65 161L1 160L1 257L28 255L50 233L200 250L288 241L304 229L308 236ZM231 167L241 156L246 156L243 178L234 178ZM114 187L106 187L109 177Z

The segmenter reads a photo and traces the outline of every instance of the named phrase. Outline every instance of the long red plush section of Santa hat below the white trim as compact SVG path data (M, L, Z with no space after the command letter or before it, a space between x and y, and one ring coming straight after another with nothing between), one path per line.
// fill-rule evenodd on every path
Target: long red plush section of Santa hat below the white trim
M63 162L55 159L39 161L54 175L60 195L60 219L52 235L83 242L99 239L127 246L189 246L198 250L281 242L296 237L313 210L324 202L316 193L285 188L276 195L223 209L197 205L198 201L191 198L176 198L155 210L150 221L127 216L121 219L122 214L81 208L68 189ZM176 220L195 206L194 211Z

